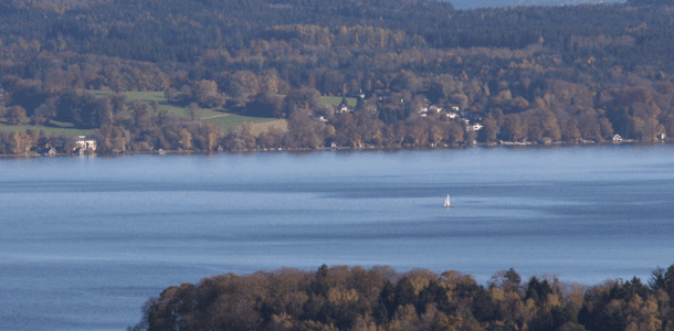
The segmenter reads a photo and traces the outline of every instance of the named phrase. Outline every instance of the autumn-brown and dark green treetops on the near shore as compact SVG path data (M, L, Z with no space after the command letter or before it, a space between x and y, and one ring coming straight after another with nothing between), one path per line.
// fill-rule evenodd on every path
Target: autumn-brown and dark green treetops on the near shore
M597 286L513 269L487 286L455 270L323 265L204 278L164 290L128 330L674 330L674 265Z

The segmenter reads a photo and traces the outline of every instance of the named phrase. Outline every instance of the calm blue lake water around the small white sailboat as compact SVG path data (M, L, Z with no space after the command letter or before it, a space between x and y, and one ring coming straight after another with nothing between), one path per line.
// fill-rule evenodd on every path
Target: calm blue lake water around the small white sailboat
M170 285L324 263L645 281L673 215L668 146L3 159L0 329L123 330Z

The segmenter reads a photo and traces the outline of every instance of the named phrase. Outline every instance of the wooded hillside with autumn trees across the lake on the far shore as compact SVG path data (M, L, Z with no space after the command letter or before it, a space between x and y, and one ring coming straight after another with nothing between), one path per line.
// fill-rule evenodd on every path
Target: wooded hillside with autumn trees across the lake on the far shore
M466 11L435 0L0 0L0 153L64 148L46 134L62 126L93 130L97 152L667 139L673 13L670 0ZM161 92L185 116L120 95L133 90ZM199 108L287 126L223 129Z

